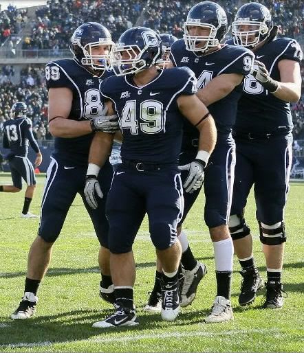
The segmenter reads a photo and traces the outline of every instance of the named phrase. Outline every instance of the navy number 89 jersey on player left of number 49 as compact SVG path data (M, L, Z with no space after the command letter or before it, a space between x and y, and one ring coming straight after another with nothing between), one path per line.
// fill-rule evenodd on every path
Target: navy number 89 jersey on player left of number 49
M78 121L92 119L103 111L105 106L100 99L99 84L111 75L111 71L104 71L101 77L94 76L74 59L52 61L45 67L47 89L67 87L72 90L72 109L68 119ZM72 139L55 137L54 155L78 165L87 164L93 136L94 133Z

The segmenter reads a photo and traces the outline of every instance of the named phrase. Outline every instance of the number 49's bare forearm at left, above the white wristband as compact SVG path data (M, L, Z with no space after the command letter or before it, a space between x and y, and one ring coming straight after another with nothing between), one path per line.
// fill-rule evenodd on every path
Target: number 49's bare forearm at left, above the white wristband
M96 133L89 149L89 163L94 163L101 168L109 158L112 144L113 134Z

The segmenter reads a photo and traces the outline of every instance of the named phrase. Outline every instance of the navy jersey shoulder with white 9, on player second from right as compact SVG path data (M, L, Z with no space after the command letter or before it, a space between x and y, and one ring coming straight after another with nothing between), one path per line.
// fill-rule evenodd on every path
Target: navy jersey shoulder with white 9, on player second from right
M240 47L239 45L226 45L226 51L223 52L228 63L218 75L222 73L239 73L248 75L253 71L254 54L251 50Z

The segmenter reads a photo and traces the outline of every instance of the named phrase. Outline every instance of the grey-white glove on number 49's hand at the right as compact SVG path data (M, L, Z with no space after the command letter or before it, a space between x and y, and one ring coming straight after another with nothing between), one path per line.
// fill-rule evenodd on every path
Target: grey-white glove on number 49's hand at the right
M189 174L184 182L184 189L186 192L192 194L195 190L202 187L204 182L204 168L206 164L201 159L195 159L189 164L179 166L179 170L188 170Z

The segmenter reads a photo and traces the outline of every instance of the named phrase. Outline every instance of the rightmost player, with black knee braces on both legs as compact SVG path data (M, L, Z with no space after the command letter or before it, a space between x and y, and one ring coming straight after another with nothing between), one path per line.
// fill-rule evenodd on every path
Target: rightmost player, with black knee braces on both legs
M235 187L229 227L243 277L239 304L252 303L263 286L252 255L252 236L243 209L254 185L260 240L267 266L267 293L263 308L283 306L283 209L292 165L290 102L301 97L303 54L291 38L276 38L270 11L260 3L239 8L232 23L234 43L254 52L253 76L246 76L237 109Z

